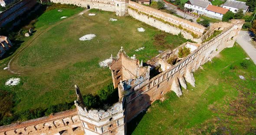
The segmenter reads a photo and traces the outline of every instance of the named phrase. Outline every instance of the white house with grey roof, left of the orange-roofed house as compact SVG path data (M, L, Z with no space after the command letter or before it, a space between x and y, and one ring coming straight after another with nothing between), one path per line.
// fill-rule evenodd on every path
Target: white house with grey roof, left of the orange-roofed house
M188 0L184 7L187 9L192 9L192 12L197 14L204 14L204 10L208 5L212 5L210 1L205 0Z

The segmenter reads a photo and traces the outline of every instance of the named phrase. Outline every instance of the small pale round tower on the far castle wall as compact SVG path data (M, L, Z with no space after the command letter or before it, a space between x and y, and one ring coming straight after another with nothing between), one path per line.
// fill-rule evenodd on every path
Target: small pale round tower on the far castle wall
M115 0L115 14L126 16L128 14L129 0Z

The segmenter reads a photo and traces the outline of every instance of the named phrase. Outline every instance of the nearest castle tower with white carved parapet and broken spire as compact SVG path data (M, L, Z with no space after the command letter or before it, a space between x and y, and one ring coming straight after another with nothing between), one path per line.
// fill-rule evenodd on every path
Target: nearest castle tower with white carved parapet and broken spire
M123 102L115 103L108 110L89 110L82 99L79 87L75 85L77 100L75 106L82 122L85 135L125 135L125 109Z

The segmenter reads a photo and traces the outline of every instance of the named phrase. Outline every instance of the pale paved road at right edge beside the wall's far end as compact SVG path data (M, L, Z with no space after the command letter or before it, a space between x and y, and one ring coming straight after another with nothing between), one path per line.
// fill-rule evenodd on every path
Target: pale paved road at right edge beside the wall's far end
M237 36L236 42L241 45L243 50L253 60L254 64L256 64L256 48L252 45L251 40L250 33L241 30Z

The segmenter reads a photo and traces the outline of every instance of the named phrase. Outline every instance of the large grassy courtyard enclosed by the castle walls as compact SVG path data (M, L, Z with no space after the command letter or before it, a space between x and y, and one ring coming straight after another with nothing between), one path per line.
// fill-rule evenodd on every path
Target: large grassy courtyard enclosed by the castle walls
M129 16L118 17L115 13L89 10L82 15L81 8L49 10L36 22L35 33L21 38L23 43L9 57L0 61L0 68L7 67L21 74L0 70L1 91L12 93L12 113L33 109L46 109L60 103L72 103L74 85L78 84L85 95L95 93L112 82L111 71L98 65L100 61L115 56L121 46L129 56L133 54L143 61L167 48L176 48L186 39L162 32ZM95 13L95 16L89 16ZM67 18L60 19L63 16ZM109 21L110 18L118 19ZM143 27L145 32L138 32ZM95 34L89 41L80 41L86 34ZM155 35L163 35L161 41ZM144 47L144 50L135 51ZM20 84L9 87L5 82L21 79ZM26 120L22 119L22 120Z

